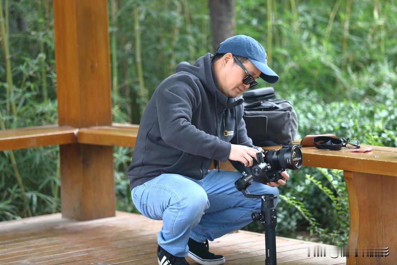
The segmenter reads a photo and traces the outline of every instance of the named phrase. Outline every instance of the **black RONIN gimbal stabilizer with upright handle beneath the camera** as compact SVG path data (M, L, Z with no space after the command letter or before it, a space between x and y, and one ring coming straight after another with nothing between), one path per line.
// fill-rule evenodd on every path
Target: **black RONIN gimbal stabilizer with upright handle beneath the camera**
M243 172L243 176L234 183L235 187L241 191L245 197L261 199L262 205L260 212L254 212L251 215L252 220L260 220L262 226L265 228L265 247L266 247L266 265L276 265L276 225L277 225L277 210L274 207L274 199L277 196L273 194L251 194L247 188L254 181L251 174Z

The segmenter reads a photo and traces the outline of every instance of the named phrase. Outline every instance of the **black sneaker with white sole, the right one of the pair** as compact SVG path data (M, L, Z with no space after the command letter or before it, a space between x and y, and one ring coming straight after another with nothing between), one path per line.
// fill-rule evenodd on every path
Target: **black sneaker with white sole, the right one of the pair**
M193 239L189 238L187 242L189 246L188 257L196 261L201 265L218 265L225 263L225 257L222 255L215 255L209 251L208 240L205 243L198 243Z

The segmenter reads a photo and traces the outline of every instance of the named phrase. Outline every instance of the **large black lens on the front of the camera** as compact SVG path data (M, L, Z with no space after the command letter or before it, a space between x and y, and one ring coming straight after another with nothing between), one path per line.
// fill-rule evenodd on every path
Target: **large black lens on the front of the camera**
M299 170L302 166L302 152L299 146L269 150L265 152L266 163L272 170L291 169Z

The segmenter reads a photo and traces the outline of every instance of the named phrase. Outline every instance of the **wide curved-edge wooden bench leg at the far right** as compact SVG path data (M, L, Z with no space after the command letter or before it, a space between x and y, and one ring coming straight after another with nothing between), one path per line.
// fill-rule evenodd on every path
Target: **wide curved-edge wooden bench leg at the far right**
M397 260L397 178L343 171L350 208L347 264L395 264ZM387 257L367 257L367 249L389 248ZM357 257L355 252L357 249Z

